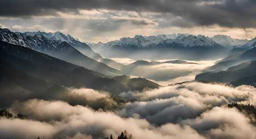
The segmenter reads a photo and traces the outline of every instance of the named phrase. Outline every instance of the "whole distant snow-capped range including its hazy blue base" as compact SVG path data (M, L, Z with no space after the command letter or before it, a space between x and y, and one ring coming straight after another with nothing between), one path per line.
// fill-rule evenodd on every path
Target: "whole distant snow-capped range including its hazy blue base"
M168 34L157 36L136 35L122 37L108 43L91 43L91 48L104 57L131 59L220 59L254 47L254 40L234 39L225 35ZM245 47L246 46L246 47ZM240 50L241 49L241 50Z

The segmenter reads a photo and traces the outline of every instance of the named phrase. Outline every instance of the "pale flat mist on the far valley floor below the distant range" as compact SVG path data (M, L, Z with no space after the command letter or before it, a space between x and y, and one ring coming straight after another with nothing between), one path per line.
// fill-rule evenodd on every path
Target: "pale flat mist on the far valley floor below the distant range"
M136 62L134 59L128 58L112 58L116 62L122 63L124 65L132 64ZM145 61L156 61L156 62L166 62L169 60L177 59L163 59L163 60L148 60ZM204 72L206 67L212 66L217 60L212 61L186 61L186 64L173 64L173 63L163 63L156 65L139 65L136 66L130 76L134 77L143 77L154 82L157 82L159 85L167 86L172 83L179 83L184 81L194 80L195 76Z

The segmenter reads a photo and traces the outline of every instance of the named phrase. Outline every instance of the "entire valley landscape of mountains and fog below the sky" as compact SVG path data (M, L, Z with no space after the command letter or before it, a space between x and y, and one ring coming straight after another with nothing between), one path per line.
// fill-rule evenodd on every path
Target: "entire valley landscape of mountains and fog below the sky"
M255 41L169 34L87 45L62 32L0 28L0 134L222 139L242 126L250 139Z

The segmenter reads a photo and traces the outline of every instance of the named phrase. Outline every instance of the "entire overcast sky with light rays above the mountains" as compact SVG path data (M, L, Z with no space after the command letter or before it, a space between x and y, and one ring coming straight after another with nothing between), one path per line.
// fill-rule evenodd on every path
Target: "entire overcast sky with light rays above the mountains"
M256 0L0 0L0 26L83 41L136 34L256 37Z

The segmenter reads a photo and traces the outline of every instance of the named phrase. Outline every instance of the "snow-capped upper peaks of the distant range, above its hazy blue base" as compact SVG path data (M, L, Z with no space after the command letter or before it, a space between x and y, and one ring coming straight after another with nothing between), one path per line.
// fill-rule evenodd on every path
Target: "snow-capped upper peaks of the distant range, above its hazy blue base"
M135 35L134 37L122 37L119 40L104 43L105 47L138 47L148 48L162 46L163 44L171 47L174 44L180 44L183 47L192 46L216 46L218 43L221 46L242 46L247 43L247 39L234 39L226 35L215 35L214 37L205 37L203 35L190 34L163 34L157 36L142 36ZM92 43L92 46L101 46L102 43Z

